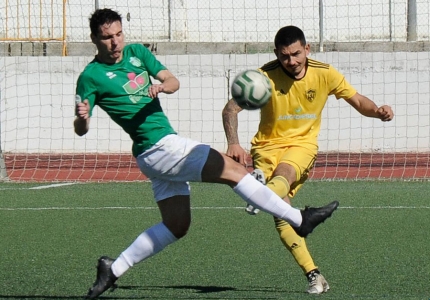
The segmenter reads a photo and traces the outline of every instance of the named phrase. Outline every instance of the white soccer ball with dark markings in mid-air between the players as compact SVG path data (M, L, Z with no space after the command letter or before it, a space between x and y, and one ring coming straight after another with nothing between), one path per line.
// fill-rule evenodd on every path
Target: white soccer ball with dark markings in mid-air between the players
M259 109L272 97L269 78L257 70L240 72L231 85L231 95L243 109Z

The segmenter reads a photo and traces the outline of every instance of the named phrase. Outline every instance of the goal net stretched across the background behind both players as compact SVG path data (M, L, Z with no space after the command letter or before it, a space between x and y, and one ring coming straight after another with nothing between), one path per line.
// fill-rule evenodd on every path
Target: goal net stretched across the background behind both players
M130 138L100 109L86 136L74 134L76 80L95 54L88 17L96 4L87 2L0 4L0 180L146 179ZM428 1L95 2L120 12L127 42L146 45L179 78L180 90L161 101L180 135L224 152L221 111L232 79L273 60L277 30L293 24L304 30L311 58L395 112L383 123L330 97L311 178L430 177ZM239 114L245 149L258 120L258 111Z

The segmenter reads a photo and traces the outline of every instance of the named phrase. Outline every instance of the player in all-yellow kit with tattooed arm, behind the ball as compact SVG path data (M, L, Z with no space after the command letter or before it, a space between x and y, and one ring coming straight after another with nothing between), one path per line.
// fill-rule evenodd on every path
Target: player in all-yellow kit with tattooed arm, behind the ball
M251 141L251 155L257 177L278 196L290 203L308 177L317 157L321 112L329 95L343 98L360 114L391 121L390 106L376 106L359 94L334 67L308 58L310 45L295 26L281 28L275 36L275 60L260 68L272 85L272 98L261 108L258 132ZM240 146L237 114L242 109L231 99L223 110L228 141L227 155L245 164ZM259 173L260 172L260 173ZM262 176L263 175L263 176ZM252 212L252 207L247 207ZM307 292L321 294L329 289L305 243L291 226L275 218L276 229L285 247L294 256L308 279Z

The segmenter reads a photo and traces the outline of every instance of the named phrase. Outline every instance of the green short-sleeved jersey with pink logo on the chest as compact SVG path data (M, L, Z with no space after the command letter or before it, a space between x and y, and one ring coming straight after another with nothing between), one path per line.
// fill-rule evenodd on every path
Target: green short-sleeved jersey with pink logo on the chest
M90 115L95 105L103 109L133 140L136 157L168 134L176 134L158 98L148 97L151 78L166 70L143 45L127 45L119 63L94 59L80 74L79 101L88 99Z

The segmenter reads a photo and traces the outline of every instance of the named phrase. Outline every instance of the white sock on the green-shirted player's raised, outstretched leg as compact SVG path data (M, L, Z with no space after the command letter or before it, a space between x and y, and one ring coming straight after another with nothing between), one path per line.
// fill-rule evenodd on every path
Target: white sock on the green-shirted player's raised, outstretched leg
M299 209L291 207L251 174L245 175L233 190L252 206L283 219L292 226L298 227L302 224L302 214Z

